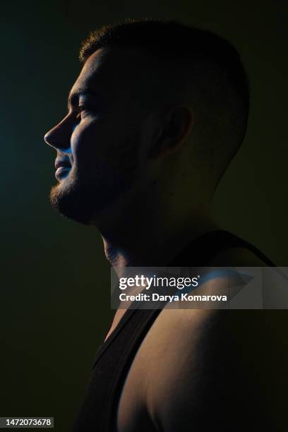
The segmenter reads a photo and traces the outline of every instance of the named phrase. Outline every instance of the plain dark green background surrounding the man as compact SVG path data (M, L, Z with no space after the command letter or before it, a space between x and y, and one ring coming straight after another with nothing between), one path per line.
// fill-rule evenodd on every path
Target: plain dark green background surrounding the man
M52 148L93 28L176 18L241 52L252 89L248 133L214 201L223 227L278 265L287 258L287 6L284 1L16 1L1 6L0 416L54 416L69 431L109 325L109 265L95 229L50 208ZM286 328L278 336L286 338Z

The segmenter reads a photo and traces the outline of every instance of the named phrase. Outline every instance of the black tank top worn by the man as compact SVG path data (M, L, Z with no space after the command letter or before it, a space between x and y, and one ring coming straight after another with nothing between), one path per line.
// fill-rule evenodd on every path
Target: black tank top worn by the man
M169 265L201 267L225 248L241 247L252 251L269 267L275 266L263 253L224 230L198 237ZM115 432L121 390L141 342L162 309L128 308L114 331L97 350L90 383L73 426L74 432Z

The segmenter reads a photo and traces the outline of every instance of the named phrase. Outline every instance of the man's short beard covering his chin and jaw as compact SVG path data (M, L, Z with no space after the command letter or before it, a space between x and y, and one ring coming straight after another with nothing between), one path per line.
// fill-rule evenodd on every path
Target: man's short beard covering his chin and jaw
M83 167L80 161L76 163L68 176L52 187L52 206L68 219L91 224L98 212L135 183L139 143L140 132L134 131L124 142L112 145L96 167L90 161Z

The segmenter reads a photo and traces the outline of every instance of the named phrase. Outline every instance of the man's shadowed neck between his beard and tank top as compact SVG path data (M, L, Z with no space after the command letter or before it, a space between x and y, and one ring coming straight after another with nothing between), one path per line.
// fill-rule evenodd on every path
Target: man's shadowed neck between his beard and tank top
M128 266L167 266L191 241L218 228L203 212L186 217L148 212L145 217L126 217L117 227L102 233L105 255L117 274Z

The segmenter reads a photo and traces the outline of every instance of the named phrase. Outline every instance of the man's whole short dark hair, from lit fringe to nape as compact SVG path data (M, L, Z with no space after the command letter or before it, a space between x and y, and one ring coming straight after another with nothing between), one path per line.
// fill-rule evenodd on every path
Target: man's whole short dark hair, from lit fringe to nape
M91 32L80 48L80 61L85 63L97 49L114 47L136 48L157 64L172 65L177 87L192 83L210 141L200 151L203 157L210 152L210 160L218 161L223 173L244 139L250 104L248 78L236 48L213 32L176 20L129 19ZM163 78L167 71L162 69ZM162 85L166 83L163 79Z

